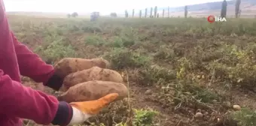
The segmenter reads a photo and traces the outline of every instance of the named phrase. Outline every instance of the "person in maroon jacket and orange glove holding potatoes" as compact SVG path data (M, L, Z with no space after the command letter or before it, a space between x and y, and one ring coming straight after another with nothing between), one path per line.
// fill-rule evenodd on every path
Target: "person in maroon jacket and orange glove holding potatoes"
M110 94L96 101L68 104L20 83L21 74L58 90L62 78L54 73L53 66L43 62L14 36L0 0L0 125L21 126L21 118L38 124L80 124L118 96Z

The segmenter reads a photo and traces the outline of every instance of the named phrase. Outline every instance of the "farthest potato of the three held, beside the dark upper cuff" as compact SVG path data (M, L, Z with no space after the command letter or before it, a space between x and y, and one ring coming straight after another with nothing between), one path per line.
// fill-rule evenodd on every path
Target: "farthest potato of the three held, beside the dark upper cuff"
M109 62L103 58L62 58L62 60L54 65L54 70L59 77L66 77L76 71L82 71L94 66L99 68L108 68Z

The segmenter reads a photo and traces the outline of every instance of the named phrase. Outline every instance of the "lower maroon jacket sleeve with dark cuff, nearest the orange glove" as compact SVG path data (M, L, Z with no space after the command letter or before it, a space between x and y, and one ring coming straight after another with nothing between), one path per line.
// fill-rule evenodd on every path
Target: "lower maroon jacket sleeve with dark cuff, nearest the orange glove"
M69 121L72 115L69 104L61 103L53 96L11 80L2 70L0 70L0 103L0 113L29 118L38 124L50 124L54 117L54 120L62 119L56 121L57 124L59 122L63 124L63 121Z

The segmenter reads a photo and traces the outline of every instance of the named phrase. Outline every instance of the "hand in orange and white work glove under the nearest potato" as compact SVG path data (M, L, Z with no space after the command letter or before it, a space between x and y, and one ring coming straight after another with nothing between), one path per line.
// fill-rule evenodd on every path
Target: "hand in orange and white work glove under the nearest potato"
M72 102L70 105L73 109L73 117L69 122L72 124L81 124L93 115L99 113L103 107L114 101L118 97L117 93L112 93L99 98L96 101Z

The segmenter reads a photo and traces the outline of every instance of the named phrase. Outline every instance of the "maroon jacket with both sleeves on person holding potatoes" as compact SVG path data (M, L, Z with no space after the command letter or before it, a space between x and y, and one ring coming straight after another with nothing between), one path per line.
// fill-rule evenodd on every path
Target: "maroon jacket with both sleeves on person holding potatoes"
M20 64L19 68L23 75L32 77L32 79L37 82L54 82L53 80L56 80L52 79L56 78L54 77L54 74L50 77L50 74L53 73L53 68L42 62L40 58L38 58L38 55L33 54L26 48L26 46L18 43L17 40L13 40L12 37L14 37L14 35L11 34L3 6L3 1L0 0L0 43L2 43L1 45L5 45L6 49L9 48L14 50L15 48L17 51L9 52L13 57L8 57L8 54L1 53L5 54L6 58L4 59L6 60L0 62L8 64L8 61L11 61L11 58L16 58L15 56L17 56L19 59L18 63ZM15 43L15 47L13 42ZM0 52L5 52L4 48L1 49ZM13 55L15 52L17 52L17 55ZM17 63L16 59L11 62ZM8 115L8 117L32 119L38 124L53 123L65 125L69 123L72 118L72 107L68 103L57 101L53 96L25 87L21 83L11 80L11 77L8 74L5 74L2 69L0 69L1 114ZM14 72L18 73L19 71Z

